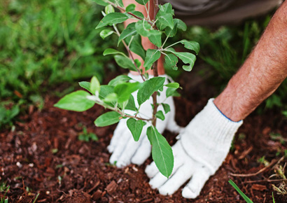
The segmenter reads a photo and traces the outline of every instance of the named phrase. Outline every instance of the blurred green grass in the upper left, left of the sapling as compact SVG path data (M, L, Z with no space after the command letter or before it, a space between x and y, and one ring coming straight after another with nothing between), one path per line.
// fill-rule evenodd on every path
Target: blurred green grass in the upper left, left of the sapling
M71 91L80 78L102 80L106 64L113 65L102 56L111 39L103 41L94 29L100 10L92 0L0 3L1 112L17 104L41 108L42 95L61 83L71 83ZM0 125L15 117L10 111L0 113Z

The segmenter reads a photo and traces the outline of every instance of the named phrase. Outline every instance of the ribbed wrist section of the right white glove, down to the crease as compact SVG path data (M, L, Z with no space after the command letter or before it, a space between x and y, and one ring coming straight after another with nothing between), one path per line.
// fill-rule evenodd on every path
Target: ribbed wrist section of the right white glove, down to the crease
M190 158L202 162L214 174L242 123L227 118L215 106L214 99L209 99L207 106L186 127L188 133L181 136L181 144Z

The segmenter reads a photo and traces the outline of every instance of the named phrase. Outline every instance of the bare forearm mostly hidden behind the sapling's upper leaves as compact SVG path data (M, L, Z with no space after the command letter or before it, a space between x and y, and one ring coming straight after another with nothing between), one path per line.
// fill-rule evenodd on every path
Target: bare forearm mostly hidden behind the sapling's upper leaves
M147 12L147 9L145 8L145 6L137 3L137 1L134 0L123 0L124 6L128 6L130 3L134 3L136 5L136 10L140 11L141 13L144 14L144 16L147 18L148 15L151 18L151 20L153 20L154 18L154 5L153 5L153 1L149 1L149 14ZM148 7L148 5L147 5ZM133 19L128 19L124 22L125 27L127 27L127 25L129 25L132 22L137 22L137 20L133 20ZM143 45L145 50L148 49L154 49L155 45L153 45L153 43L151 43L151 41L148 40L147 37L141 37L141 44ZM134 59L139 59L139 61L141 62L141 69L144 69L144 60L141 59L141 57L139 55L136 55L134 52L132 52L132 57L134 57ZM132 71L131 71L132 72ZM137 74L137 72L132 72L133 74ZM148 73L153 75L153 70L148 70ZM162 62L162 58L159 59L158 61L158 73L160 75L165 74L165 69L163 67L163 62Z

